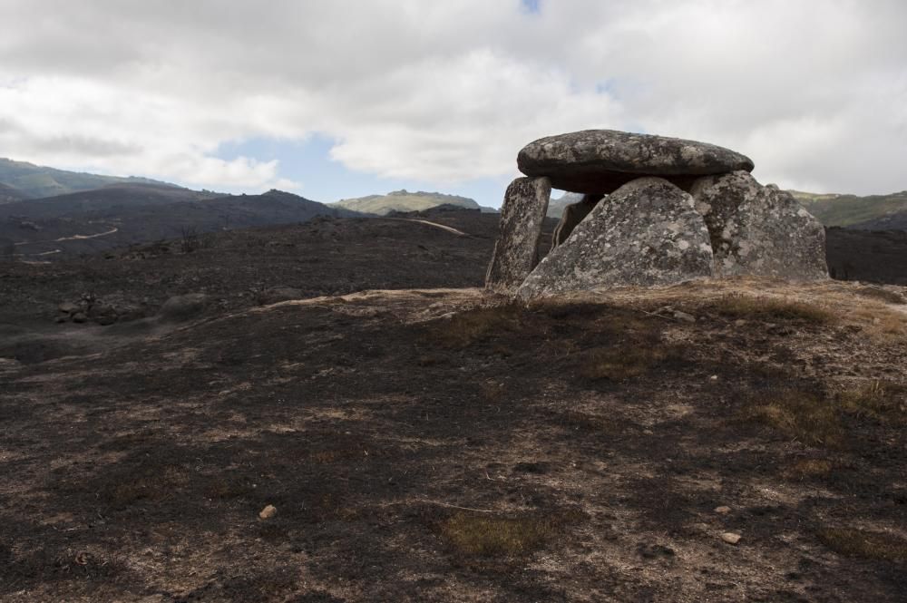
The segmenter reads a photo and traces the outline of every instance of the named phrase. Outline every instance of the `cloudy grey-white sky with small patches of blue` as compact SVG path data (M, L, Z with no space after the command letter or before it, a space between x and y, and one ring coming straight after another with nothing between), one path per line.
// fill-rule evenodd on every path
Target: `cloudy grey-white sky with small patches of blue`
M522 146L607 128L763 183L907 189L902 0L0 0L0 157L334 201L500 206Z

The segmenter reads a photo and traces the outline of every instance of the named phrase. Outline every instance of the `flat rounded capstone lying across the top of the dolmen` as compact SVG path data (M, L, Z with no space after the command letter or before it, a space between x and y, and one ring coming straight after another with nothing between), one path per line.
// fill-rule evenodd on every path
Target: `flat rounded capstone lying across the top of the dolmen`
M689 190L697 177L751 171L753 161L706 142L584 130L530 142L517 156L517 166L527 176L547 176L556 189L603 195L643 176Z

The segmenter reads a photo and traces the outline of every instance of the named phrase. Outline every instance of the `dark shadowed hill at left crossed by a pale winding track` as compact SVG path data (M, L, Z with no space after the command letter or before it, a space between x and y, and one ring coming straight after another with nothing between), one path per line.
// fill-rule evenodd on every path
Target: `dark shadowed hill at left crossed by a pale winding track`
M162 238L190 237L197 245L199 235L216 230L352 215L279 190L212 197L169 186L116 184L0 205L0 241L12 241L24 259L58 259Z

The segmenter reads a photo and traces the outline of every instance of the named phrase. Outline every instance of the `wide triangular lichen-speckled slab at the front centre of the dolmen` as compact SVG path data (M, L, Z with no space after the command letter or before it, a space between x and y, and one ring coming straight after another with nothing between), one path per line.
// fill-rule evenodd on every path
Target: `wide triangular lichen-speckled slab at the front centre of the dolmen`
M517 291L530 299L710 277L708 229L693 198L668 180L641 178L600 202Z

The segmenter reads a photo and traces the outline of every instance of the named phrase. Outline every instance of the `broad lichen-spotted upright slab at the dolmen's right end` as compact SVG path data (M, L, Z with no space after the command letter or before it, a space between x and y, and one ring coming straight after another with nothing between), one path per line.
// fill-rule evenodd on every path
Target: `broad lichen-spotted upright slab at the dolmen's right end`
M717 277L828 278L825 229L790 193L735 171L697 180L692 194L706 220Z

